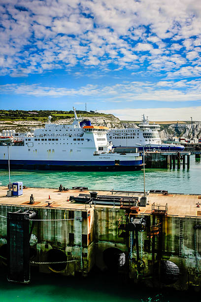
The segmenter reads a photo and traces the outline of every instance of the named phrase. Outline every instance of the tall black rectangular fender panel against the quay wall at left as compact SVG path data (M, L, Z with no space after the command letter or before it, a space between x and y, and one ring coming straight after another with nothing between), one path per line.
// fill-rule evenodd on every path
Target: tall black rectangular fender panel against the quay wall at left
M30 219L36 212L7 212L7 279L10 282L30 282Z

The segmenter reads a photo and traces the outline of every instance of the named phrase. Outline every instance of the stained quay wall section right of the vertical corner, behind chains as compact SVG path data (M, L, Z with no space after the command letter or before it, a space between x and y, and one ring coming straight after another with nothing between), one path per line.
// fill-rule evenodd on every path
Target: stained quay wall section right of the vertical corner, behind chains
M125 212L117 209L97 208L95 210L95 241L96 254L95 263L100 269L107 269L103 261L103 252L116 247L126 254L130 253L131 232L127 239L118 237L118 219L125 215ZM201 225L201 219L195 217L178 216L153 216L137 215L146 219L146 229L138 233L139 254L141 249L142 234L142 261L136 260L136 247L134 244L132 258L129 261L127 272L134 283L140 282L145 285L156 287L173 287L179 290L188 288L201 288L201 229L195 231L195 225ZM183 234L182 247L180 242L180 221L182 220ZM161 235L150 237L150 226L162 222ZM196 248L195 248L196 232ZM161 236L161 237L160 237ZM161 238L161 239L160 239ZM155 241L154 252L152 242ZM161 242L161 243L160 243ZM140 255L141 258L141 255ZM160 263L168 260L179 267L180 274L177 282L164 285L160 282Z

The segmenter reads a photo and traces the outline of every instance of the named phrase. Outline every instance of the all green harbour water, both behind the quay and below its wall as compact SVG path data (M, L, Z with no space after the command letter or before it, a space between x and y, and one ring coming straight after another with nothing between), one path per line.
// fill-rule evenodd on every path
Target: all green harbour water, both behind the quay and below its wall
M166 189L168 192L201 194L201 161L191 155L190 169L145 169L146 190ZM136 172L74 172L12 170L11 183L22 181L30 187L66 188L74 186L105 190L143 190L143 171ZM0 170L0 182L8 184L8 171ZM6 270L0 271L0 302L199 302L200 294L174 290L149 289L125 283L118 276L92 273L86 278L64 277L55 273L31 272L29 285L11 284Z

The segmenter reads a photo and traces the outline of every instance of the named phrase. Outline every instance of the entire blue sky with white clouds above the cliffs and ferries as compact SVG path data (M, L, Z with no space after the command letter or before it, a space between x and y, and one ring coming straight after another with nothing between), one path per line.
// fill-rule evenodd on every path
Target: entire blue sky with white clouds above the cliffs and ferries
M0 108L201 120L201 0L1 0Z

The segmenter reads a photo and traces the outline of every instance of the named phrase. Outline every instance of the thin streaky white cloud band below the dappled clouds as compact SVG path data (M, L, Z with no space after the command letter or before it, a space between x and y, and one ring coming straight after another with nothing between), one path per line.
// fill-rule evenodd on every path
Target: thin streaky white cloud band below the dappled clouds
M181 89L182 88L182 89ZM41 85L0 85L3 94L33 95L35 97L84 97L101 102L192 102L201 101L201 80L180 81L130 81L114 85L92 85L75 88Z

